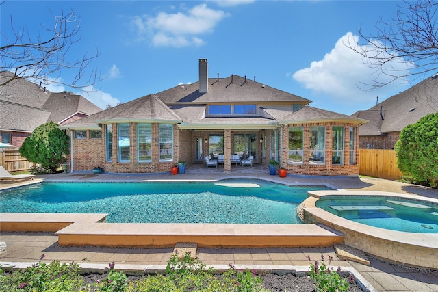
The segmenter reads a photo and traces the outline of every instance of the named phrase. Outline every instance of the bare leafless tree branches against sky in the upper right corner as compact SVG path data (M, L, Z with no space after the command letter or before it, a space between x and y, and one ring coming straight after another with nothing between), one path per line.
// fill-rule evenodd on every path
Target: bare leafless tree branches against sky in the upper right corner
M423 80L438 73L438 3L419 0L404 1L404 4L395 17L377 23L376 34L365 36L359 30L359 42L347 44L378 72L376 78L365 84L368 90L381 88L396 79ZM405 66L399 67L400 62ZM406 70L406 65L410 70ZM381 75L386 78L379 78Z

